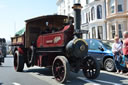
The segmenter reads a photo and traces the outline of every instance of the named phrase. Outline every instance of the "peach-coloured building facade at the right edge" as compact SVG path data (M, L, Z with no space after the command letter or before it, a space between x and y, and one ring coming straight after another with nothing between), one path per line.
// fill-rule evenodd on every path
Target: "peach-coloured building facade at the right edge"
M128 30L128 0L106 0L107 39Z

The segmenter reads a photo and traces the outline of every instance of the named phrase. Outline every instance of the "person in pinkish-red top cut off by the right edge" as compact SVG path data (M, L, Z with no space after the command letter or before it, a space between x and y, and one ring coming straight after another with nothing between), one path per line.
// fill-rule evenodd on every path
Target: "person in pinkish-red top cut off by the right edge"
M125 65L128 69L128 31L123 33L123 55L125 57ZM126 73L128 75L128 72Z

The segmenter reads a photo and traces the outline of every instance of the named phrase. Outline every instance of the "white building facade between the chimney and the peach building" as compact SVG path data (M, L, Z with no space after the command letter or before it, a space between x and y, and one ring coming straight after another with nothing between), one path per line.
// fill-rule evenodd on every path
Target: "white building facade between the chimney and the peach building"
M83 38L96 38L106 40L106 15L104 0L81 0L82 9L82 29L88 30L88 35Z

